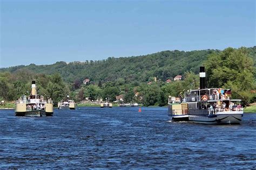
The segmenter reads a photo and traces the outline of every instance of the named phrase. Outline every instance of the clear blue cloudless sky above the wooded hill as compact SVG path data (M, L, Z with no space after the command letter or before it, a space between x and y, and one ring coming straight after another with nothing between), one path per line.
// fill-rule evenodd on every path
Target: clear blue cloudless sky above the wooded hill
M255 45L254 0L0 1L0 67Z

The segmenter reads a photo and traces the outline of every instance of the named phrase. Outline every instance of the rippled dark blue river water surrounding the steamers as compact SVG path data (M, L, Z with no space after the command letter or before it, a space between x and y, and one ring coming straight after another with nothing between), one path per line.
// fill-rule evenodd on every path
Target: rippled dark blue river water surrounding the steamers
M256 168L256 114L241 125L169 122L167 108L0 110L0 168Z

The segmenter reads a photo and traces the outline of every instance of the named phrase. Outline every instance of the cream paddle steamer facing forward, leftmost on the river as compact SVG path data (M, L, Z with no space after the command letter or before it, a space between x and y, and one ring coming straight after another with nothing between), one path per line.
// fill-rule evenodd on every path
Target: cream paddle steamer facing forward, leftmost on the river
M16 101L15 115L33 117L52 116L53 102L51 98L44 100L43 96L37 95L36 82L32 81L31 95L23 95Z

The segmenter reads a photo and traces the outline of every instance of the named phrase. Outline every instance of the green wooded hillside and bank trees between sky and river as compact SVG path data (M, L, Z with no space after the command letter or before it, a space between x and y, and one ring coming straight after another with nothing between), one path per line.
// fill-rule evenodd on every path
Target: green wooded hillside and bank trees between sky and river
M51 98L54 107L67 98L78 107L98 107L105 100L163 107L170 96L184 98L185 91L198 89L199 66L206 68L208 88L231 89L227 95L243 106L256 101L256 46L0 68L0 101L28 96L33 80L38 95Z

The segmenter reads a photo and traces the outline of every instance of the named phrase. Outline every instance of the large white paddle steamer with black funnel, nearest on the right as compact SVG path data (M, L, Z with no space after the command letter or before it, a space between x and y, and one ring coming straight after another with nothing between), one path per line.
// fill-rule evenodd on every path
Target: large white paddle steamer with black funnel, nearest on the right
M231 99L231 89L206 88L204 67L200 67L199 75L199 89L187 91L178 102L169 102L169 116L172 121L239 124L244 113L241 100Z

